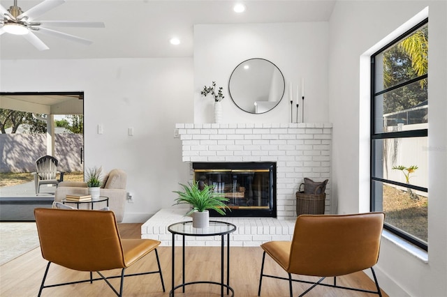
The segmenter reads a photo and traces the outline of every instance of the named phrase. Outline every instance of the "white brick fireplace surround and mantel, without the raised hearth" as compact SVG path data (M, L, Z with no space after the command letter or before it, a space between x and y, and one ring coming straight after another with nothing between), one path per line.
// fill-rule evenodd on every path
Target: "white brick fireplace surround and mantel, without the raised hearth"
M296 217L303 178L329 179L332 123L177 123L183 162L276 162L277 218Z

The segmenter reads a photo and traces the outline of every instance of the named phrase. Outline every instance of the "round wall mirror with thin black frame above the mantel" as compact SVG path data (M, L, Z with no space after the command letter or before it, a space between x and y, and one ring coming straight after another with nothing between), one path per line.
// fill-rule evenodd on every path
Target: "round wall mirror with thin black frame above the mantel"
M228 82L235 105L244 112L263 114L276 107L286 83L281 70L265 59L248 59L236 66Z

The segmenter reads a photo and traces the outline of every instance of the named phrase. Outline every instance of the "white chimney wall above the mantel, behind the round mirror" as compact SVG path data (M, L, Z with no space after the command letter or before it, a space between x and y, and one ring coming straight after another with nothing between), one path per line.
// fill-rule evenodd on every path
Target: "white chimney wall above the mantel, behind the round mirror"
M228 93L228 80L242 61L263 58L274 63L286 80L279 105L265 114L239 109ZM223 86L221 123L290 123L289 83L305 78L305 122L328 122L328 23L200 24L194 26L194 123L213 123L213 100L200 96L213 81ZM301 87L301 86L300 86ZM300 91L301 94L301 91ZM293 122L296 122L295 102ZM299 121L301 117L301 100Z

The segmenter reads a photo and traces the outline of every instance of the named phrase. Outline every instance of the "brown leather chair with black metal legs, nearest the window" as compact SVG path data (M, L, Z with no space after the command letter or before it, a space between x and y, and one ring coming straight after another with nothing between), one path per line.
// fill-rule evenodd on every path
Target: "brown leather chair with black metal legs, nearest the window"
M258 296L261 296L263 276L288 280L291 297L292 282L312 284L303 296L318 284L339 289L350 289L379 294L374 266L379 259L383 229L383 213L354 215L300 215L295 223L292 241L263 243L263 262L259 278ZM269 254L288 278L264 274L265 254ZM336 277L371 268L377 291L368 291L337 285ZM291 274L321 277L318 282L292 279ZM334 284L321 283L325 277L334 277Z

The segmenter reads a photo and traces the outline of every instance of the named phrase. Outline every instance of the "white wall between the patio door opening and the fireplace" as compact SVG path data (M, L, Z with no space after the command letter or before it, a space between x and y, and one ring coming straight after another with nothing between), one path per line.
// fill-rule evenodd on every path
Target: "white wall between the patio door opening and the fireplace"
M127 172L135 203L124 222L173 204L172 191L189 178L174 127L193 120L191 58L2 60L0 71L1 91L85 92L85 164Z

